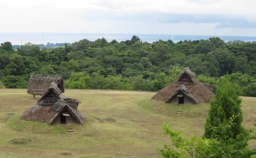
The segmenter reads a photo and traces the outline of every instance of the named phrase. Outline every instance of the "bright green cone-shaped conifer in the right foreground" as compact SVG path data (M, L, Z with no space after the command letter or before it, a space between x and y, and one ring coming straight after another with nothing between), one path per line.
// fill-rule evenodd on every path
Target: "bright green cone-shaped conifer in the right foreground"
M214 130L220 124L228 124L228 120L232 118L233 125L228 131L226 138L233 138L244 131L242 126L243 115L241 110L242 99L238 96L236 89L232 87L230 76L227 74L220 78L214 99L210 102L210 110L206 119L204 137L218 138L220 131Z

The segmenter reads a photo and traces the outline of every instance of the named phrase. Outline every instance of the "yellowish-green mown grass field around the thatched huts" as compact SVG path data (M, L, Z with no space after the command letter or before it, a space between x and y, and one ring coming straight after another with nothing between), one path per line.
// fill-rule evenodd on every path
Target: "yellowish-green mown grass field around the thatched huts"
M68 134L62 125L20 120L36 100L26 89L0 89L0 157L156 158L157 148L169 142L161 128L164 121L186 136L202 136L208 104L165 104L151 100L154 94L65 90L65 96L81 101L78 110L87 116L83 124L71 125L76 134ZM256 98L242 97L244 127L256 122L255 102ZM176 116L179 108L182 114ZM250 148L256 148L256 141Z

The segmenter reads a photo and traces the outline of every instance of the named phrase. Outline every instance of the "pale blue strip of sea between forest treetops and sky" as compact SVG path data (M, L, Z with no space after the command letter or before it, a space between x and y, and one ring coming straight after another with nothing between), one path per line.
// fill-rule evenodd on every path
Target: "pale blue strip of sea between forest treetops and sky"
M28 32L0 32L0 43L11 42L12 45L23 45L28 42L32 44L49 43L73 43L79 40L88 39L90 41L98 38L106 38L108 42L116 40L118 42L131 40L132 36L138 36L142 42L156 42L158 40L172 40L172 34L90 34L90 33L28 33ZM207 40L210 37L222 38L225 42L230 40L256 41L252 36L192 36L192 35L174 35L174 43L184 40Z

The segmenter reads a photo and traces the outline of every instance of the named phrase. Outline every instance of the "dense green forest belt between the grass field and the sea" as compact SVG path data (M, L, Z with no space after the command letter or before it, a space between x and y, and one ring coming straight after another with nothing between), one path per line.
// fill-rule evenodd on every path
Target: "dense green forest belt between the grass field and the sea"
M0 45L0 87L27 88L30 74L63 75L65 88L158 91L189 67L198 81L216 85L230 74L240 96L256 96L256 41L172 40L108 42L87 39L62 47Z

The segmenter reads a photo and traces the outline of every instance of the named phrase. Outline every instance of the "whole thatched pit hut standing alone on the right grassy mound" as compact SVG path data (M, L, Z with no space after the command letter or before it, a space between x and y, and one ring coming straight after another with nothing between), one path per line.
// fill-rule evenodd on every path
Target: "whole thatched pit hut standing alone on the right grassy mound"
M212 85L202 84L196 80L189 68L184 68L180 76L160 90L152 99L176 104L209 103L214 94Z

